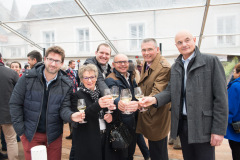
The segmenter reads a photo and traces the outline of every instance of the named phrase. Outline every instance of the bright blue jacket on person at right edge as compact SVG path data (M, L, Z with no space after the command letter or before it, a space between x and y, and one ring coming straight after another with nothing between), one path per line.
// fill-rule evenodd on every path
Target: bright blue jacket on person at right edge
M226 139L240 142L240 134L235 133L232 127L233 122L240 121L240 78L237 78L228 84L228 127Z

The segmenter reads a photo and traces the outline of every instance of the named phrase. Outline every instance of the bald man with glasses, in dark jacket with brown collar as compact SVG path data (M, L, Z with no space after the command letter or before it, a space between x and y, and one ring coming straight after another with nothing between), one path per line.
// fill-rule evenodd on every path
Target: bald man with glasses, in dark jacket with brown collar
M123 123L125 123L130 132L132 133L133 140L132 143L128 147L128 160L133 160L133 154L135 152L136 147L136 110L138 108L138 102L136 101L135 95L134 95L134 88L137 87L137 83L135 81L135 76L133 72L128 72L129 62L128 57L124 54L117 54L114 57L114 62L112 63L114 69L111 74L108 75L108 77L105 79L106 84L109 88L113 86L119 87L119 91L122 89L130 89L132 93L132 100L129 102L128 105L126 105L122 100L120 100L120 97L118 97L115 100L115 104L118 105L118 109L120 112L123 112L127 106L127 110L133 112L132 114L120 114L121 119Z

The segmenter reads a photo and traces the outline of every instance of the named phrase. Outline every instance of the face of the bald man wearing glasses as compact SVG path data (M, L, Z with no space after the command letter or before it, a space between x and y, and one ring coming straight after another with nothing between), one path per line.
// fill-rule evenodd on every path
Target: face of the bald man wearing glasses
M129 67L128 57L124 54L118 54L114 57L112 65L119 73L125 75Z

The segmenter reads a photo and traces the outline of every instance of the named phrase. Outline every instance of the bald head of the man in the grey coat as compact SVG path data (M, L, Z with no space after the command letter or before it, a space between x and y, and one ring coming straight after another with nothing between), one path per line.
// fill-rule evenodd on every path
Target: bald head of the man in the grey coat
M175 36L175 45L178 51L187 59L195 50L196 38L186 30L180 31Z

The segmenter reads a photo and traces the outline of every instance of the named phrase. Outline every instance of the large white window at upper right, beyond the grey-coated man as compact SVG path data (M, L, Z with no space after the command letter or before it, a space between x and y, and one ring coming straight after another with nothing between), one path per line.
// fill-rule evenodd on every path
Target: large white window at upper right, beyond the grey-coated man
M235 34L236 32L236 17L225 16L217 18L217 44L220 46L234 46L236 45L236 36L224 35Z

